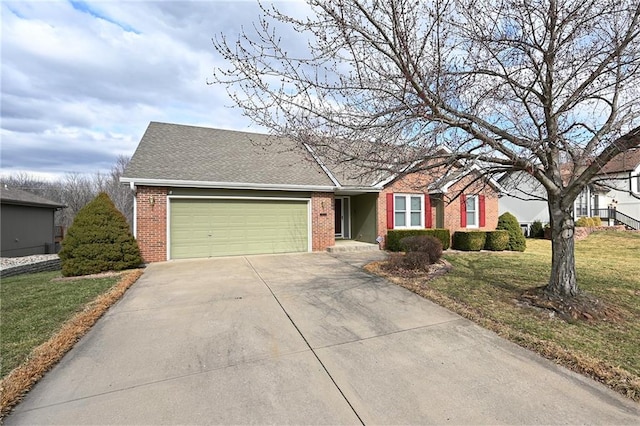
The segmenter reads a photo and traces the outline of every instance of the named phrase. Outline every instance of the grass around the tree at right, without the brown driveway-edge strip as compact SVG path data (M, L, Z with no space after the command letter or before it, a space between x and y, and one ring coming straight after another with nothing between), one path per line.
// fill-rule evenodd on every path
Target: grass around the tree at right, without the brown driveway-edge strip
M429 283L434 290L517 332L640 376L640 234L601 232L576 243L579 288L617 307L623 315L617 323L567 322L514 302L523 290L546 285L549 241L527 240L524 253L450 254L446 259L454 268Z

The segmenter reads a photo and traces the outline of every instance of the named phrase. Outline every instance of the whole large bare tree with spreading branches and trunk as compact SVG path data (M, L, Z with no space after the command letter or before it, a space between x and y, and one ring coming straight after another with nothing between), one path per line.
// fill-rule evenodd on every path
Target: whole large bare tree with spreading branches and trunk
M215 82L244 114L372 173L454 162L529 173L553 230L547 292L576 295L573 202L640 144L640 3L310 0L309 9L297 18L262 6L255 31L214 38L229 64Z

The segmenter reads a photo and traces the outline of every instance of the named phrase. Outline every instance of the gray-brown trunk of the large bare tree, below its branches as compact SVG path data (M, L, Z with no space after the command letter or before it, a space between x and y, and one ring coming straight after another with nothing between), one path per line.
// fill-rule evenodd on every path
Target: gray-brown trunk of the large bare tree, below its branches
M561 200L549 198L551 220L551 277L546 291L556 296L576 296L575 224L573 205L562 206Z

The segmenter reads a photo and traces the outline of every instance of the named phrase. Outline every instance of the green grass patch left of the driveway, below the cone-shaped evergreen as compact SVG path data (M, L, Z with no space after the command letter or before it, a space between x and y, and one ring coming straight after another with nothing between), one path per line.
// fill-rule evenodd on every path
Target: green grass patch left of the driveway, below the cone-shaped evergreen
M120 279L56 280L60 276L60 272L42 272L2 279L0 377L25 361L35 347Z

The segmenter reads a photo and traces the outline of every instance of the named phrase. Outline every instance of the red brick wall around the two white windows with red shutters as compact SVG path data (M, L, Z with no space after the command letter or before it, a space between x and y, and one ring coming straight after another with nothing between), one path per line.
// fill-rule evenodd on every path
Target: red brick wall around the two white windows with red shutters
M493 230L498 224L498 193L489 185L485 185L484 180L479 180L478 184L471 184L478 177L471 174L456 184L452 185L444 195L444 227L451 231L451 235L455 231L462 229L460 227L460 191L464 190L465 194L483 194L485 196L485 226L482 228L473 228L481 230ZM423 194L427 192L428 185L433 178L427 173L414 173L405 176L391 185L387 186L378 197L378 235L386 237L387 235L387 194L403 193L403 194ZM469 186L467 186L469 185ZM431 202L431 223L436 226L436 208L432 194ZM454 198L455 197L455 198Z

